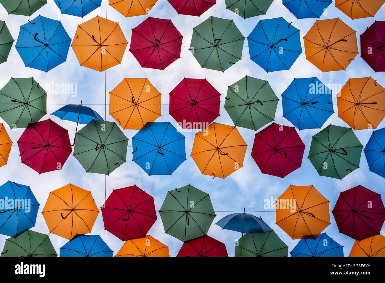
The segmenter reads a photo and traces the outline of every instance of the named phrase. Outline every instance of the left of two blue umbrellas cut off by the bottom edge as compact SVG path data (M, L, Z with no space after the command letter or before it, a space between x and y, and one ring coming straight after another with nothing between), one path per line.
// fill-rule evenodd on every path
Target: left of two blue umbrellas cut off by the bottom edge
M112 256L99 235L77 235L60 248L60 256Z

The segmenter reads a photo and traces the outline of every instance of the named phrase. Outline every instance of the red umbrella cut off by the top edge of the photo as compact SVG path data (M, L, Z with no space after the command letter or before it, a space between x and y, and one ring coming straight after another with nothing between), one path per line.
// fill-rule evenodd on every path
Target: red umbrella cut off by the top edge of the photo
M200 17L215 5L216 0L168 0L179 15Z

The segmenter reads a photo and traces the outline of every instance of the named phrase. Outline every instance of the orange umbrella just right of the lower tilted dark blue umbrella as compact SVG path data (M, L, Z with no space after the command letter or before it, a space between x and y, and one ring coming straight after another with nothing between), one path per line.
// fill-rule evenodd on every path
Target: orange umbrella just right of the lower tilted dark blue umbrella
M276 223L292 239L316 239L330 224L329 201L313 186L290 186L275 202Z

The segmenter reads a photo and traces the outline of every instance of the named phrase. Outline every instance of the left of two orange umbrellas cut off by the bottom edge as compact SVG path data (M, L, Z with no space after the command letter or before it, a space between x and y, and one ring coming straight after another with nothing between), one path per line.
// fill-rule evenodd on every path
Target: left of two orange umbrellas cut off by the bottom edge
M147 235L127 240L116 256L170 256L168 246Z

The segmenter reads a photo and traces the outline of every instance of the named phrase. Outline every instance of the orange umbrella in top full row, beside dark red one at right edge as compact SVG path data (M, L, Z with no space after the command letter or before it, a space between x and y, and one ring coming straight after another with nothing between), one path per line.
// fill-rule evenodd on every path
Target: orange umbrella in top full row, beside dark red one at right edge
M322 72L345 70L358 54L356 31L340 18L317 20L303 42L306 59Z

